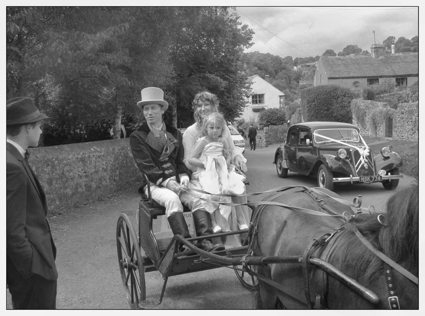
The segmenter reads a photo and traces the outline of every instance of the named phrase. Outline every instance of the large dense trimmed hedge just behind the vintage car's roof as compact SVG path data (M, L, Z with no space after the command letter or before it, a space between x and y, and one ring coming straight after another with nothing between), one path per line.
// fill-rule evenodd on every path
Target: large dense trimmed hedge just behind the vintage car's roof
M301 109L305 121L352 123L350 102L355 93L335 85L317 86L301 91Z

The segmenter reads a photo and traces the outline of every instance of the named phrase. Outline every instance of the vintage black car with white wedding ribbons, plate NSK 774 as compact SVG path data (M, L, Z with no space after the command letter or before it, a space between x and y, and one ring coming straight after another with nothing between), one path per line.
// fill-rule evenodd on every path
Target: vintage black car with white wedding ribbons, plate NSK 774
M288 170L317 177L321 188L333 190L334 183L381 182L385 189L398 186L400 156L392 147L374 155L359 128L337 122L305 122L288 128L286 142L277 148L273 163L277 175Z

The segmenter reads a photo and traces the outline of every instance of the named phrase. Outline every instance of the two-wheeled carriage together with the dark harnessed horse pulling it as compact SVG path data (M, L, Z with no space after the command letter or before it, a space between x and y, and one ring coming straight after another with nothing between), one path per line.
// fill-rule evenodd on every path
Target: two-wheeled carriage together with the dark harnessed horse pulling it
M153 221L165 210L149 190L142 194L138 234L126 214L117 223L130 306L159 305L170 276L227 266L257 292L258 308L418 308L418 186L395 193L385 213L362 208L361 196L349 203L327 189L288 186L245 195L260 193L262 201L245 203L253 210L248 229L187 239L156 238ZM247 235L242 247L209 253L192 243L232 234ZM190 250L179 252L181 244ZM147 299L151 271L164 280L158 299Z

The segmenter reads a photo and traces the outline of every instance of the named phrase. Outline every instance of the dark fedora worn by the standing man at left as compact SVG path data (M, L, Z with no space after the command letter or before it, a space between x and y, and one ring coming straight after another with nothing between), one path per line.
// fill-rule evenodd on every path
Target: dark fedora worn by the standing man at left
M50 119L41 114L30 97L19 96L6 101L6 125L30 124Z

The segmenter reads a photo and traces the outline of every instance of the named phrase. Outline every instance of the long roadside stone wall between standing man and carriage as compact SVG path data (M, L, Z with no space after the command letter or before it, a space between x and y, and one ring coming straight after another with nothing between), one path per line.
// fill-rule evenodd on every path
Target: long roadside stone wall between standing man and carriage
M30 148L30 165L43 186L49 212L137 186L129 138Z

